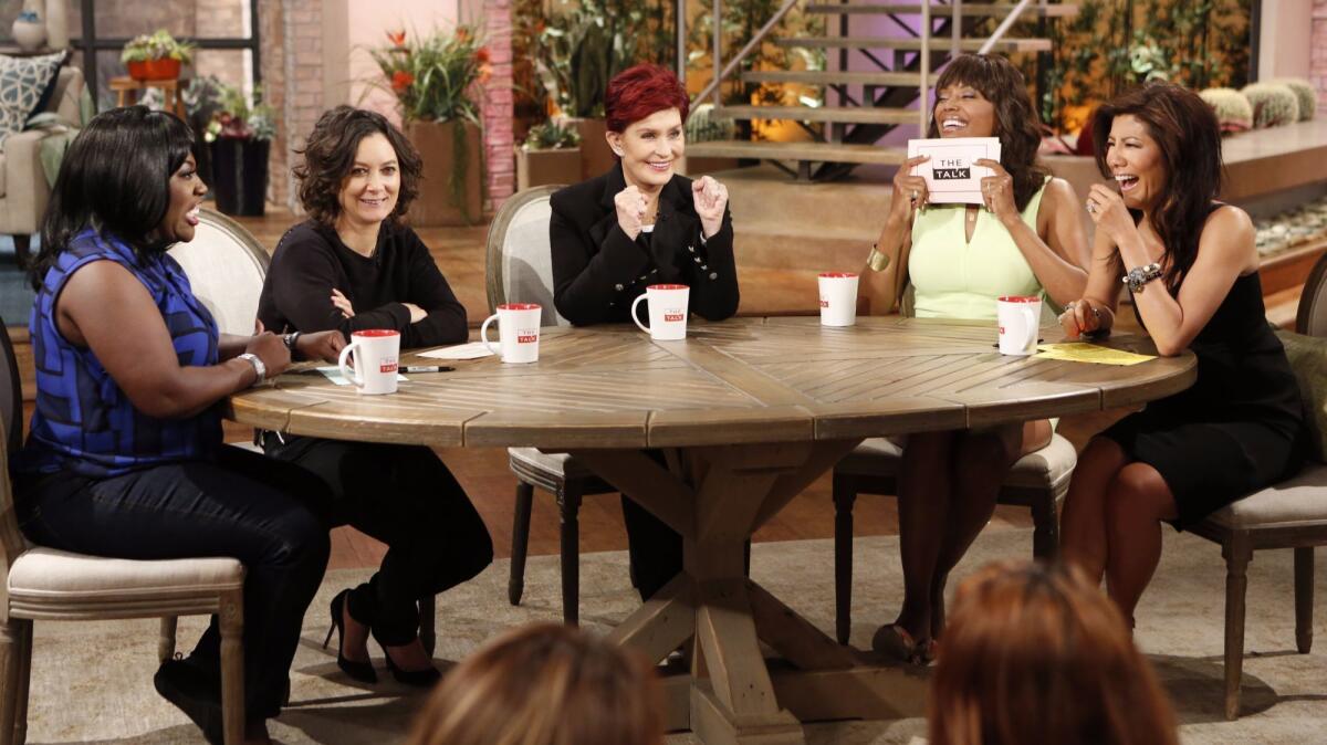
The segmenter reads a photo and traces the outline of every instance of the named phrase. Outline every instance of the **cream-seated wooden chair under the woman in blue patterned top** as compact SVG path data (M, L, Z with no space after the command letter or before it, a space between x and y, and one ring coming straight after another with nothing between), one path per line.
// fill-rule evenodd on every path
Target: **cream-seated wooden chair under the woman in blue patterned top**
M0 318L0 329L5 329ZM244 741L244 566L234 558L131 561L76 554L28 542L19 530L9 453L23 433L19 366L0 333L0 745L28 736L33 620L162 618L158 656L175 652L175 618L216 615L222 632L222 720L226 745ZM170 620L167 624L166 620ZM169 631L169 635L166 634Z

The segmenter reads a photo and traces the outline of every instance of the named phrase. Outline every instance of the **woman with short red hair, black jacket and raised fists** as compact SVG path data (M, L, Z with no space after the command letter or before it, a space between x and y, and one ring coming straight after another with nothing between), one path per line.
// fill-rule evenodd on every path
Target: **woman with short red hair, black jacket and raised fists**
M557 312L577 326L630 321L648 285L678 284L691 288L693 313L729 318L738 274L727 188L674 172L686 147L686 89L664 68L637 65L609 81L604 107L618 162L552 198ZM632 577L649 598L681 571L682 538L626 497L622 513Z

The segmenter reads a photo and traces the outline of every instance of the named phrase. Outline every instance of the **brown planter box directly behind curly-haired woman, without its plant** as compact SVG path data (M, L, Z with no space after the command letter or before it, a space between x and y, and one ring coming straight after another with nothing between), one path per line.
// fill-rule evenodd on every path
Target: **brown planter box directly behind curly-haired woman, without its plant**
M410 224L431 228L482 221L483 143L479 127L471 122L407 122L405 130L423 158L423 179L419 198L410 205ZM459 147L458 137L462 138ZM458 162L458 150L464 162ZM451 186L453 172L458 168L464 168L459 194Z

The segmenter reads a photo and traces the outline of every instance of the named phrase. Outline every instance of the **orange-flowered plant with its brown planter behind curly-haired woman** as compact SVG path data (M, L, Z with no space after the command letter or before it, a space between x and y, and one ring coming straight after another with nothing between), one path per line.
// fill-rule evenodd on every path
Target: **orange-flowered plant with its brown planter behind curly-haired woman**
M483 150L479 95L488 80L488 49L472 27L451 33L406 36L370 53L382 70L376 81L401 105L406 137L423 158L419 198L410 208L415 225L471 225L483 216Z

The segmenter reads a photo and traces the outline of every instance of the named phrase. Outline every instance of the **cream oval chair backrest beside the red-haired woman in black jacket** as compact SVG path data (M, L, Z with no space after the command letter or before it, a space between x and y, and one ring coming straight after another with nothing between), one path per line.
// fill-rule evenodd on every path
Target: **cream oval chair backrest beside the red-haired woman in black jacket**
M504 302L537 302L543 326L571 326L553 308L553 257L548 244L548 199L561 186L541 186L503 203L488 227L488 312Z

